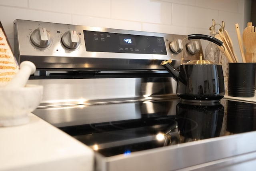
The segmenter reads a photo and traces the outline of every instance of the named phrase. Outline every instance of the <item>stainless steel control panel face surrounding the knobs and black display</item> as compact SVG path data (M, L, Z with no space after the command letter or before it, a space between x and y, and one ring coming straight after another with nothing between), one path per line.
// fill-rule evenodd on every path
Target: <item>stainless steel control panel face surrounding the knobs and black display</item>
M47 48L38 48L32 45L30 35L37 28L46 28L52 36L51 44ZM76 30L81 39L80 46L75 50L68 50L61 44L62 35L68 30ZM142 36L159 36L166 40L167 55L156 54L127 54L109 52L87 52L84 43L84 30L111 32L120 34L133 34ZM162 60L170 58L180 60L181 53L172 53L169 44L173 40L183 40L184 35L162 34L152 32L140 32L131 30L118 30L109 28L97 28L88 26L76 26L70 24L56 24L39 21L14 20L14 47L15 56L18 62L30 60L36 64L37 68L69 68L69 69L150 69L163 70L160 66ZM190 40L184 40L184 45ZM200 40L198 40L200 42ZM201 47L201 44L200 44ZM199 53L203 54L202 47L198 54L190 55L184 48L184 60L198 59Z

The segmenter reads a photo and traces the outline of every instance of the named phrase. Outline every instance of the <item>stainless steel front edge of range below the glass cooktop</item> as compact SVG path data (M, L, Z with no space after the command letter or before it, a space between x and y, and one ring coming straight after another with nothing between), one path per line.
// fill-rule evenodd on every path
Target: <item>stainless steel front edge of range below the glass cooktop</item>
M235 163L239 164L240 162L255 159L255 136L256 131L139 151L126 156L116 155L114 157L103 157L96 153L96 161L98 161L96 170L218 170L223 165L228 167ZM238 158L232 159L230 158L232 156ZM206 163L206 165L204 165L204 163ZM255 165L255 161L253 163ZM209 167L206 167L207 165ZM215 165L215 167L213 165ZM202 168L200 169L200 167ZM235 169L234 167L231 168Z

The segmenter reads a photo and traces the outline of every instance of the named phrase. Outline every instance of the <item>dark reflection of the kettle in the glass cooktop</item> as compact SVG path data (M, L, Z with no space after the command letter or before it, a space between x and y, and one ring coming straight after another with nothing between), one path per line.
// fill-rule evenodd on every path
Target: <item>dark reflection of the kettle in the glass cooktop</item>
M218 137L222 128L224 107L218 103L193 105L181 101L176 107L178 128L184 141Z

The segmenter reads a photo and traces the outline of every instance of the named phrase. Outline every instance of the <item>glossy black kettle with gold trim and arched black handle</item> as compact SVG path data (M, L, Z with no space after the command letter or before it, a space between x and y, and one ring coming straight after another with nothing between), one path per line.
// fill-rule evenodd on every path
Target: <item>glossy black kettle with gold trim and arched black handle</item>
M188 35L190 39L204 39L222 46L220 40L203 34ZM172 66L172 60L162 61L161 65L177 81L176 93L183 101L209 103L218 102L224 97L224 76L221 64L202 60L181 63L180 69Z

